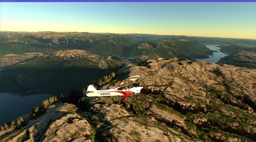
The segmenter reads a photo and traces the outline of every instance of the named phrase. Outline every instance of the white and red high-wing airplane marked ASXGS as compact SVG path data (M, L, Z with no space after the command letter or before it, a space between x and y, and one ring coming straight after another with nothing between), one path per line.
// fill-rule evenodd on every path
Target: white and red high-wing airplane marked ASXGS
M132 87L132 84L138 80L140 76L135 75L133 77L129 77L123 80L120 84L120 87L113 89L105 89L105 90L96 90L92 85L89 85L86 91L87 97L96 97L96 96L124 96L122 101L129 101L129 97L133 94L140 93L143 87ZM137 96L140 99L140 96Z

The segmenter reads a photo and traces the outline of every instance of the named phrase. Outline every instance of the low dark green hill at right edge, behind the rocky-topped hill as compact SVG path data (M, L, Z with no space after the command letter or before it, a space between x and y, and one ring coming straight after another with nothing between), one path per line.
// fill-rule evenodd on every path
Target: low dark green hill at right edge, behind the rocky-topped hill
M239 50L248 51L248 52L256 51L255 50L256 47L253 48L253 47L246 47L246 46L241 46L241 45L229 45L229 46L220 45L220 46L217 46L217 47L220 47L221 52L228 52L229 54L233 53L233 52L236 52L236 51L239 51Z

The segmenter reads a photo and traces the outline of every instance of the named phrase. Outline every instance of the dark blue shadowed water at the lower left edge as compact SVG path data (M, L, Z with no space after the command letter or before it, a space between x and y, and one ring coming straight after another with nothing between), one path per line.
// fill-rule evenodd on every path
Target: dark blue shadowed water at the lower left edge
M0 125L8 123L19 116L32 112L43 100L53 95L3 92L0 93Z

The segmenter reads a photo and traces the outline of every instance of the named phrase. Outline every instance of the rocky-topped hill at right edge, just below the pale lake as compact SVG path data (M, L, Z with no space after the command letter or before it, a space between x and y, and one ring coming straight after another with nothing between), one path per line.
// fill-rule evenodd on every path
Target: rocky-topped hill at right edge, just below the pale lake
M229 64L236 67L256 69L256 53L247 51L236 51L226 57L220 58L217 64Z

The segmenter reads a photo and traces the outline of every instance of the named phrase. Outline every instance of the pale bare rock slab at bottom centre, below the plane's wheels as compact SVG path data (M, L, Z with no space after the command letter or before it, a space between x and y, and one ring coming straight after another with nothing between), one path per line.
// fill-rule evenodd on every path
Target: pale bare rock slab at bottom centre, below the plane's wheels
M110 129L102 133L106 142L196 142L196 139L177 133L170 128L155 126L153 122L137 117L121 118L108 123ZM163 129L167 131L163 131Z

